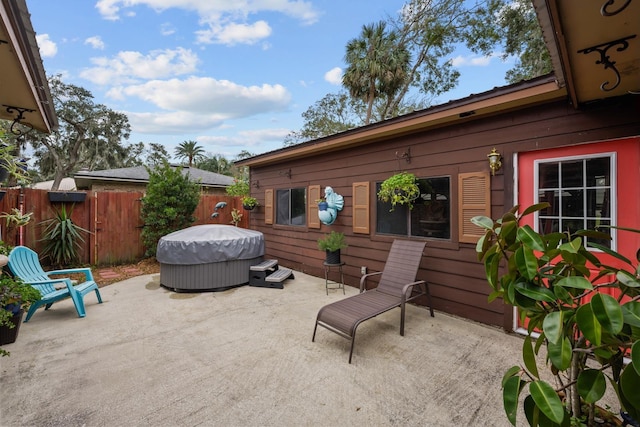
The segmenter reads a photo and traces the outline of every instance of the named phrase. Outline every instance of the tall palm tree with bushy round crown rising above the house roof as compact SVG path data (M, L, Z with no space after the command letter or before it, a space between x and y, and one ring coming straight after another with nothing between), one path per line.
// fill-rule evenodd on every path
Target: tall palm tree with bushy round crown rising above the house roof
M365 124L371 121L376 97L391 98L400 89L407 78L409 59L397 33L387 32L383 21L363 26L360 37L347 44L342 84L353 98L367 105Z

